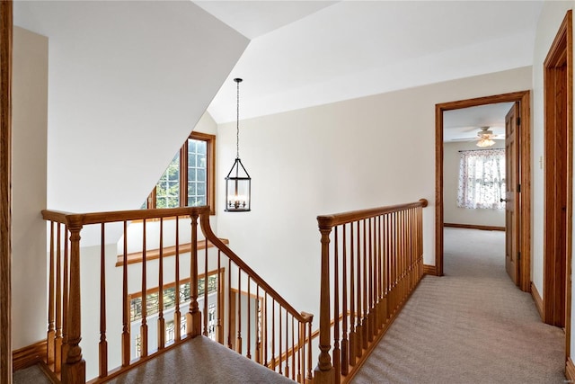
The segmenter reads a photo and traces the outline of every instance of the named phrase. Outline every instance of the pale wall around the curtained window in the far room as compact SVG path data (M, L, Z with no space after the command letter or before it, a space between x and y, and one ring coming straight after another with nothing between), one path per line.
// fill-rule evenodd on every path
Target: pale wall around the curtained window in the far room
M505 148L503 140L495 140L490 148ZM443 145L443 221L452 224L505 227L505 210L470 210L457 207L459 184L459 151L477 149L474 142Z

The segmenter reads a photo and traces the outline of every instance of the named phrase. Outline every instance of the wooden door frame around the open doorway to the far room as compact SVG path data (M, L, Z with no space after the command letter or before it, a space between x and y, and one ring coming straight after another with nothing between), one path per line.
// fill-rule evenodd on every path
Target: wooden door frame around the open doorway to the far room
M443 276L443 112L476 107L493 103L519 103L519 118L521 127L518 129L519 175L521 184L519 219L521 222L520 241L521 252L519 263L519 288L530 291L531 282L531 138L530 138L530 92L520 91L510 94L496 94L474 99L459 100L450 103L436 104L435 108L435 272Z

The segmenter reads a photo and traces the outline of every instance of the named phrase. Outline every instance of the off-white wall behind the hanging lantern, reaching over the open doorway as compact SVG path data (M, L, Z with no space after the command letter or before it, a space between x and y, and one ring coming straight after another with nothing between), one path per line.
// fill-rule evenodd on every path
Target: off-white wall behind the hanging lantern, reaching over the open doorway
M435 104L527 90L531 79L531 67L523 67L242 121L240 156L252 176L248 213L224 212L235 124L220 125L218 236L296 309L314 314L317 215L428 199L424 260L433 264Z

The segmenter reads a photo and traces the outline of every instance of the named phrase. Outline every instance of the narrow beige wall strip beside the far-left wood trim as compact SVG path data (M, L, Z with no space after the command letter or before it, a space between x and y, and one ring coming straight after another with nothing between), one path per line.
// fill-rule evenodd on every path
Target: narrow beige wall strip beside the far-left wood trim
M48 39L13 30L13 349L46 338ZM33 111L34 113L31 113Z

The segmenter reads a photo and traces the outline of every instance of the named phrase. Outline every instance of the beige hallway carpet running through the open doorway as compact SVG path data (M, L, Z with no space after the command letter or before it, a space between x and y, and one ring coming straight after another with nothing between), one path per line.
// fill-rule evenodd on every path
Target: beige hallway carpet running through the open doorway
M563 383L562 329L505 272L504 232L446 228L426 276L353 383Z

